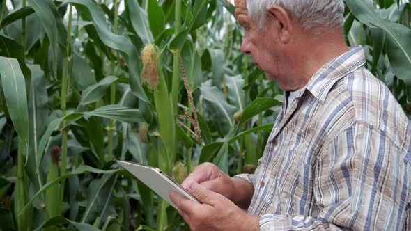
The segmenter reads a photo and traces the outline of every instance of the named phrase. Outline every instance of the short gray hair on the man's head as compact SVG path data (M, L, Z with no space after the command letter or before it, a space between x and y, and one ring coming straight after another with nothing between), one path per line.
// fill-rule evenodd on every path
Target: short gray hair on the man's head
M249 16L261 29L265 28L270 6L281 6L287 10L302 23L304 29L341 28L344 22L343 0L248 0Z

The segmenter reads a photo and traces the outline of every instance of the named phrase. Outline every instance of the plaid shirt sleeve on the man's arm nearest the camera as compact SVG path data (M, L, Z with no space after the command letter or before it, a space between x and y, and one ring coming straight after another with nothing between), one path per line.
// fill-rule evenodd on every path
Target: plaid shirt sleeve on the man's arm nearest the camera
M318 153L313 196L319 215L265 214L261 230L403 230L411 170L404 147L362 122L346 129Z

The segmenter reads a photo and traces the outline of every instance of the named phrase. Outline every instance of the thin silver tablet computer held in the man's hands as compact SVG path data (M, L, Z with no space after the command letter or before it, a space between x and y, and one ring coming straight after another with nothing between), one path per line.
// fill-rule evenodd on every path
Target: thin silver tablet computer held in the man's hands
M170 190L176 191L186 198L189 198L189 200L201 204L196 197L192 196L188 191L185 191L180 184L174 182L171 177L167 176L159 168L143 166L129 161L117 161L117 163L132 173L137 179L141 180L141 182L146 184L151 190L157 193L158 196L169 202L169 204L176 209L178 209L178 207L170 200Z

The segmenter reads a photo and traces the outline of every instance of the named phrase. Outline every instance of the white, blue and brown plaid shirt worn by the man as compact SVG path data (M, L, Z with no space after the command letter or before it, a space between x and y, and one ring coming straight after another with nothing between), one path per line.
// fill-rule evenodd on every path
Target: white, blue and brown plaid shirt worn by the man
M352 47L318 70L236 176L261 230L411 230L411 124L365 62Z

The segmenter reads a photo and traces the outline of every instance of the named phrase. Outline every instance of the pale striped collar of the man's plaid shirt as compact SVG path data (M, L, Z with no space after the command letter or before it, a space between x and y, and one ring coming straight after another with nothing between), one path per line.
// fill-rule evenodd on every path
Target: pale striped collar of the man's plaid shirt
M323 65L307 83L307 90L323 103L337 81L365 63L364 49L361 46L351 47L346 53Z

